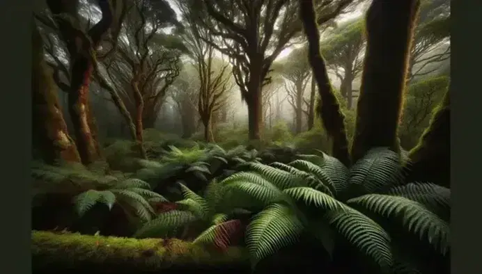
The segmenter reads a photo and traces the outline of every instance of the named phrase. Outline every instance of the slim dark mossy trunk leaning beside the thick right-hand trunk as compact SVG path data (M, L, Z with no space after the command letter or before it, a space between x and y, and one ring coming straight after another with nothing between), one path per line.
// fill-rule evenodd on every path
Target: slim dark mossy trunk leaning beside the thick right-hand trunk
M304 33L309 44L309 63L313 68L313 76L318 84L321 102L318 104L318 115L323 122L327 134L332 138L332 154L346 166L350 166L348 138L345 129L345 115L341 112L331 83L329 82L325 61L320 54L320 33L316 24L316 13L313 1L300 0L301 17Z

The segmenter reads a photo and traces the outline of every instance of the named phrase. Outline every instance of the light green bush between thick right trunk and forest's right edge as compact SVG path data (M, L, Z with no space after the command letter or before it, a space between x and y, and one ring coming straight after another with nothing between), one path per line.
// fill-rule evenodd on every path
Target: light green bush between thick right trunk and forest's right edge
M422 132L428 127L431 113L444 97L449 81L449 77L439 76L409 86L398 133L401 145L406 150L417 145Z

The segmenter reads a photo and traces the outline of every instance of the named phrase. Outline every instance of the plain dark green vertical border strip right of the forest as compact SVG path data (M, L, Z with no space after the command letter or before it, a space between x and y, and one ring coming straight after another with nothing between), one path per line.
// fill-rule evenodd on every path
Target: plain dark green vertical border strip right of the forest
M482 273L482 38L470 31L482 26L482 1L454 0L451 15L452 273Z

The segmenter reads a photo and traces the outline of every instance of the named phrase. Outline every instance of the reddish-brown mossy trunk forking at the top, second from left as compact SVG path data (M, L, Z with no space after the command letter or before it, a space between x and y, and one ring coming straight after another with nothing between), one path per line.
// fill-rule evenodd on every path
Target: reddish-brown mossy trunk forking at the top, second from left
M77 149L82 163L89 164L101 159L97 129L88 102L89 86L93 74L95 48L113 20L109 1L98 0L102 18L87 32L78 28L78 1L47 0L47 5L56 17L61 38L70 55L69 113L75 128Z

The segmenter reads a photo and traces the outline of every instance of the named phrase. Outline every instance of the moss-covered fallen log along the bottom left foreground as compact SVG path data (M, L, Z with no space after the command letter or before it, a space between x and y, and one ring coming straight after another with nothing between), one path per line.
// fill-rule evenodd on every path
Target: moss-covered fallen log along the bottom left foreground
M230 248L221 253L176 239L132 239L34 231L31 248L34 273L72 268L102 273L102 269L141 273L176 267L227 265L249 268L247 253L242 248Z

